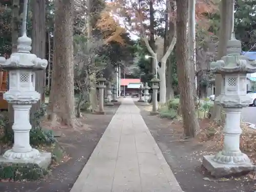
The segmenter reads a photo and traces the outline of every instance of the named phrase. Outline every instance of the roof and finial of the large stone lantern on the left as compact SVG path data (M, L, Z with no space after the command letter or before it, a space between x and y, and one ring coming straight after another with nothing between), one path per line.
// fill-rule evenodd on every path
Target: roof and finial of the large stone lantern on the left
M9 59L0 57L0 68L6 70L29 69L43 70L46 69L48 61L40 59L31 51L31 38L26 34L18 38L17 52L12 53Z

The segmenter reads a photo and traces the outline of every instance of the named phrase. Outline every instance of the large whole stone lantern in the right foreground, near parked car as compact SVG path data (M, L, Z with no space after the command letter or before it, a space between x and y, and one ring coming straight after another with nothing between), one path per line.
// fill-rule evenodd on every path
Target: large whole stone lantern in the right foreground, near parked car
M255 168L248 156L240 151L239 144L241 112L252 102L246 95L246 74L256 72L256 61L240 55L241 52L241 42L232 33L227 55L210 64L211 72L223 77L221 94L215 102L223 106L226 114L223 150L215 156L203 157L203 166L216 177L249 172Z

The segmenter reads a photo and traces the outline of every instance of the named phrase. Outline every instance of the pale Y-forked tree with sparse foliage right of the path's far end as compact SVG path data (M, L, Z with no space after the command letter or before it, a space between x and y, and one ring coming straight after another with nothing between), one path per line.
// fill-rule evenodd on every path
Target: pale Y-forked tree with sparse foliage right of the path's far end
M159 2L157 1L150 1L152 2L153 5L157 5ZM172 1L171 1L172 2ZM124 4L120 4L120 8L118 9L118 11L121 9L120 11L120 16L125 17L125 20L127 21L127 23L129 23L128 25L126 24L126 26L132 26L132 28L130 28L130 30L132 31L137 31L139 33L139 36L144 40L144 43L147 47L148 52L150 53L150 55L153 57L154 59L154 69L155 69L155 73L158 72L159 74L159 78L160 78L160 99L159 102L160 103L165 103L166 101L166 75L165 75L165 69L166 69L166 61L170 55L170 53L173 51L174 46L176 44L176 33L174 33L173 38L171 41L169 41L169 45L167 45L167 48L165 49L166 52L162 53L161 55L157 54L157 49L154 50L154 46L152 47L150 45L150 42L152 41L152 36L153 36L153 32L156 33L156 26L154 25L154 30L152 29L153 25L147 26L145 24L145 22L147 20L150 20L151 23L155 24L155 21L153 20L153 15L154 13L156 13L157 11L161 11L161 10L154 10L154 12L152 12L150 9L151 7L149 7L149 12L148 12L148 2L147 1L127 1ZM165 3L162 2L161 3ZM150 4L151 6L151 4ZM167 1L167 4L165 5L166 9L168 11L171 11L172 9L168 9L167 7L169 7L169 1ZM128 13L128 14L127 14ZM170 13L169 15L173 15L173 13ZM174 30L174 32L176 32L176 24L174 22L174 28L172 30ZM155 45L155 44L154 44ZM159 66L159 62L161 62L161 66ZM158 70L157 70L158 69Z

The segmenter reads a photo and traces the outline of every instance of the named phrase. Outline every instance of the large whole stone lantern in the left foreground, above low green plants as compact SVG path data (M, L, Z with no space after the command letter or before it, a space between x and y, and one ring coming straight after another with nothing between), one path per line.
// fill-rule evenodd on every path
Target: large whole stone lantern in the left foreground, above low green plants
M35 71L44 70L47 60L31 54L31 38L26 33L18 38L17 52L9 59L0 57L0 67L9 71L9 91L4 99L12 104L14 110L14 144L5 152L0 161L36 163L47 167L51 162L51 153L40 153L30 145L30 109L40 99L35 91Z

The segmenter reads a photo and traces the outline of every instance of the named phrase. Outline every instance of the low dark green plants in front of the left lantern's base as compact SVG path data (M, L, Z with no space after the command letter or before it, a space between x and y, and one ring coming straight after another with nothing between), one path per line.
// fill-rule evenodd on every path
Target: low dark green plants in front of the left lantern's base
M0 180L34 181L44 178L48 171L33 163L1 163Z

